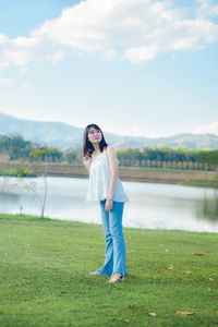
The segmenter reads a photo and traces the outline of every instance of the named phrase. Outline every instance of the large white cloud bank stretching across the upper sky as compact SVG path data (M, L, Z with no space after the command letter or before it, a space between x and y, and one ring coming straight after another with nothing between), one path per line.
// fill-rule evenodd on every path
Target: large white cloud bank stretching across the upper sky
M28 37L0 34L0 69L27 66L34 61L63 59L69 49L143 63L158 53L199 50L218 41L218 5L174 8L170 0L86 0L63 9ZM190 19L192 16L192 19Z

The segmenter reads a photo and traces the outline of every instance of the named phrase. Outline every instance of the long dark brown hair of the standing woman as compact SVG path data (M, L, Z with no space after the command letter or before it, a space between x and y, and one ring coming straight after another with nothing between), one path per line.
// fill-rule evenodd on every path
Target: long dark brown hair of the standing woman
M100 130L100 128L96 124L89 124L85 128L85 131L84 131L84 135L83 135L83 155L84 157L87 155L88 157L92 157L94 150L95 150L95 147L93 146L93 144L90 143L90 141L88 140L88 132L90 130L90 128L94 128L96 129L97 131L100 131L101 133L101 141L99 143L99 148L100 148L100 152L102 153L104 150L104 147L108 147L108 143L105 141L105 136L104 136L104 133L102 131Z

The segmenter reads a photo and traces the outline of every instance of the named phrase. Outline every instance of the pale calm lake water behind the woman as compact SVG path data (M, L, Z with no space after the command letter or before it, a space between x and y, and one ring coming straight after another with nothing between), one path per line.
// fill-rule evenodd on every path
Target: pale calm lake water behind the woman
M0 178L0 213L40 215L38 198L26 185L36 182L43 196L43 179ZM122 182L130 197L123 211L123 226L148 229L180 229L218 232L218 192L213 189L171 184ZM48 178L45 216L101 223L99 203L86 203L88 180ZM32 190L33 191L33 190Z

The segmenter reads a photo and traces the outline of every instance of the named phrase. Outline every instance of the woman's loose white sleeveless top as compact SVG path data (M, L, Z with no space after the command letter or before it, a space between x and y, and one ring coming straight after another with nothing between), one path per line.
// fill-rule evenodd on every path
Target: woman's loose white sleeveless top
M119 165L119 160L118 160ZM109 160L106 150L101 153L95 161L90 164L89 180L88 180L88 193L86 202L98 202L105 199L108 195L110 185L110 168ZM113 193L113 199L118 202L129 202L129 197L125 194L122 182L118 177L118 183Z

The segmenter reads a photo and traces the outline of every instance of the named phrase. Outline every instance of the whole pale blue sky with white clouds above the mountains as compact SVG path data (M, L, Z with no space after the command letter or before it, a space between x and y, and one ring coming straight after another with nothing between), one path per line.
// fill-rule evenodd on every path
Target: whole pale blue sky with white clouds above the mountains
M218 135L218 1L0 1L0 112Z

